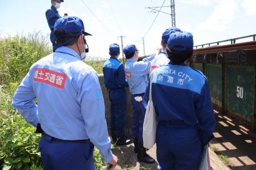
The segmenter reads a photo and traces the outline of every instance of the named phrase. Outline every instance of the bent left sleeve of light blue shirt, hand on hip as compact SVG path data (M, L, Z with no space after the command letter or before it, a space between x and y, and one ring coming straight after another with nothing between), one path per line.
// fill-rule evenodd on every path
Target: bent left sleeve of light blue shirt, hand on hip
M37 123L39 123L39 116L37 105L34 102L36 95L31 85L32 75L29 75L29 73L23 78L21 84L14 93L12 106L19 110L19 113L29 124L36 127Z

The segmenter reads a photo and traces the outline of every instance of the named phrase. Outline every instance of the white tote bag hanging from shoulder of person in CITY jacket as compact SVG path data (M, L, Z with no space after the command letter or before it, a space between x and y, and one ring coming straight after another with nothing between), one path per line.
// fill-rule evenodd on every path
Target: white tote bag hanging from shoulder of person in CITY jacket
M149 87L149 103L147 103L147 110L145 111L145 119L143 123L143 145L150 149L155 144L155 136L157 133L157 120L155 115L155 108L152 101L152 77L151 73L150 87Z

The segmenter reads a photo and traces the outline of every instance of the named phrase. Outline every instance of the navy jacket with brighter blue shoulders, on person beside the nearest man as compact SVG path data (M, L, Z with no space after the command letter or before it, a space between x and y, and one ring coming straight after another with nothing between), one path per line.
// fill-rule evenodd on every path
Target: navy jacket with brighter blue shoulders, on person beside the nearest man
M106 88L124 88L128 87L126 74L124 73L124 65L111 56L103 65L104 84Z

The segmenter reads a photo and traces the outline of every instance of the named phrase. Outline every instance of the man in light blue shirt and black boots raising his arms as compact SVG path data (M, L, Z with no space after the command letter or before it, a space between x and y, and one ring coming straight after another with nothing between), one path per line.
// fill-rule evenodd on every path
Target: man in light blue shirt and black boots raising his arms
M147 87L147 74L149 73L150 61L137 62L139 58L139 50L135 45L127 45L124 47L124 54L126 55L126 79L132 93L132 135L134 136L134 152L138 153L137 159L143 163L154 163L155 160L151 158L143 146L142 130L145 118L145 108L142 105L142 97ZM151 60L154 58L151 57Z

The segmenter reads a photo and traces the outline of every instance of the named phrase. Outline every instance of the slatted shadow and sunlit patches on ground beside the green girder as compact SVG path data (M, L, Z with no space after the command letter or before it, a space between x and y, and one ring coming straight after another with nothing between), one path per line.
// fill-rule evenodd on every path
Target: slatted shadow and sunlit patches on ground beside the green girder
M256 135L232 118L215 114L215 127L212 145L217 154L227 156L230 168L235 170L256 169Z

